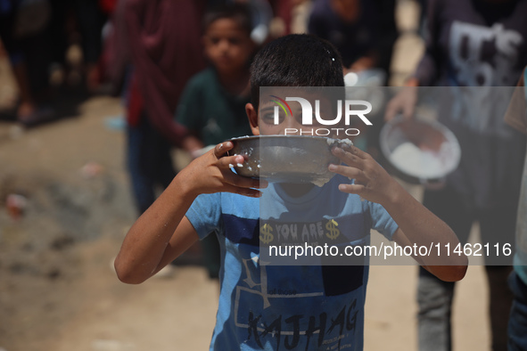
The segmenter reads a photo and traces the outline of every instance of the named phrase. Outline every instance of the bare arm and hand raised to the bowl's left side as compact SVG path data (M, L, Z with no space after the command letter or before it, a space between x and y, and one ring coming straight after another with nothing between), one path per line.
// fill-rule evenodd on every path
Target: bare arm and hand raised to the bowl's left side
M185 217L194 199L202 193L234 192L259 197L266 182L235 175L229 165L243 163L243 156L225 156L233 143L220 143L194 159L169 184L128 231L115 270L119 280L140 283L188 249L197 239Z

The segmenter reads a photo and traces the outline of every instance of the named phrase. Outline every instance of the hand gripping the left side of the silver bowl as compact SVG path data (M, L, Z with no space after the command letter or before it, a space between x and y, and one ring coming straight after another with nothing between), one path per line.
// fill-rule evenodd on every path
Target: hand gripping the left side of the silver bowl
M227 156L227 151L233 147L232 142L219 143L179 172L177 177L185 190L194 197L202 193L234 192L259 198L258 189L266 188L268 182L236 175L231 167L243 163L243 156Z

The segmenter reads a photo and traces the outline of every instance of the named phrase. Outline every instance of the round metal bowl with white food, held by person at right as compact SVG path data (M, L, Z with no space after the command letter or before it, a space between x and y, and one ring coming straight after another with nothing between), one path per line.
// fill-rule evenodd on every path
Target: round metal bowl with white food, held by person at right
M413 184L437 184L461 159L456 136L436 120L394 118L380 136L383 156L396 175Z

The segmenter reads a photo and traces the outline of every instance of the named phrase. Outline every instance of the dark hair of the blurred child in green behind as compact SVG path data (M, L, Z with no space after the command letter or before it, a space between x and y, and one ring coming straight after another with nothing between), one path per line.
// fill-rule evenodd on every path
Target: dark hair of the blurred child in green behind
M203 15L203 33L207 32L213 22L223 19L234 20L247 36L251 36L251 11L246 4L221 4L208 9Z

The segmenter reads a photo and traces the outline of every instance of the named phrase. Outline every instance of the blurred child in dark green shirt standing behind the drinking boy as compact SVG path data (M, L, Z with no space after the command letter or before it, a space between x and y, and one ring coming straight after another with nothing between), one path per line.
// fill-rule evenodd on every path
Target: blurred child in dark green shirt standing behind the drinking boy
M249 61L254 52L249 9L230 4L210 10L203 18L203 33L210 68L190 79L177 107L177 121L190 132L182 144L193 158L205 146L251 134L245 115L245 104L250 102ZM202 249L210 278L218 278L216 236L203 240Z

